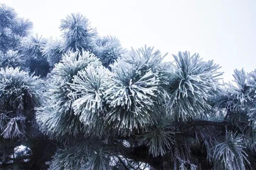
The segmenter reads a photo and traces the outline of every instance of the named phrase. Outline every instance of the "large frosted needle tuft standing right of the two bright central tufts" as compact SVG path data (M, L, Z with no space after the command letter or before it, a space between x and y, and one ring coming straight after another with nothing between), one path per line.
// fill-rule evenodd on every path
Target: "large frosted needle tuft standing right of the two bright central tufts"
M190 56L187 51L173 57L176 70L167 88L171 96L169 109L177 119L198 118L211 109L207 100L218 94L220 67L213 61L201 61L198 54Z

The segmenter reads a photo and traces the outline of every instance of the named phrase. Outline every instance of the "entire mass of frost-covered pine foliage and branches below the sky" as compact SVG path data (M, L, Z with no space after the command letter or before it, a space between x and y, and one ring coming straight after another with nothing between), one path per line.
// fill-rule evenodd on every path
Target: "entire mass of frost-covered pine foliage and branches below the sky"
M221 83L213 60L125 50L80 13L56 40L0 18L0 169L255 169L256 70Z

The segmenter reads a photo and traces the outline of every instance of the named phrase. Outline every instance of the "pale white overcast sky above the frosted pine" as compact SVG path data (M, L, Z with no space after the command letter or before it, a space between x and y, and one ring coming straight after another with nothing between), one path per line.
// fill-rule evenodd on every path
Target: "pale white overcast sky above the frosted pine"
M60 20L80 12L99 35L125 48L154 46L166 60L178 51L214 59L232 80L233 70L256 68L256 0L0 0L34 23L33 32L60 37Z

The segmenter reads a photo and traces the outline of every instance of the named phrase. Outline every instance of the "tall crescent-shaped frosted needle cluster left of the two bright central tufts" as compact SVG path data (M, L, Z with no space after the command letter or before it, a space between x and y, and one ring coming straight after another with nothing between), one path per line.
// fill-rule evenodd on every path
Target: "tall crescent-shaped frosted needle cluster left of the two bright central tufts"
M37 111L37 121L44 133L57 136L81 133L84 127L72 109L77 97L72 96L74 89L71 84L74 76L79 76L80 71L89 65L97 68L101 62L90 52L68 52L53 68L49 76L49 88L46 89L48 99L45 106Z

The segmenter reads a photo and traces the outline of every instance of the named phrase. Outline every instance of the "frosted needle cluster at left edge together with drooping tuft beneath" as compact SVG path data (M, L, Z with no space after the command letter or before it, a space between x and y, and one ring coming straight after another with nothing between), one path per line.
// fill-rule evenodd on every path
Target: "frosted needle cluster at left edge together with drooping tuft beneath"
M39 104L43 81L17 68L0 71L0 132L4 138L25 137L25 114Z

